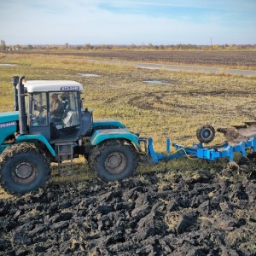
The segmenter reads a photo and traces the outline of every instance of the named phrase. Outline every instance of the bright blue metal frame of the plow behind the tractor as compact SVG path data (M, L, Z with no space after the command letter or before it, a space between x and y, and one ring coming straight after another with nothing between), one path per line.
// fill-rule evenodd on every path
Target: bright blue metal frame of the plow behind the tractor
M154 151L152 137L148 137L148 155L154 163L158 163L160 160L172 160L184 156L206 160L218 160L220 158L228 157L230 161L234 161L235 152L241 152L242 156L246 156L247 148L252 148L253 152L256 151L256 137L251 137L247 142L236 143L236 145L224 143L222 145L214 145L208 148L204 147L202 143L193 144L191 147L185 147L177 143L173 143L172 145L176 148L176 152L173 154L170 151L171 140L167 138L166 154L159 154Z

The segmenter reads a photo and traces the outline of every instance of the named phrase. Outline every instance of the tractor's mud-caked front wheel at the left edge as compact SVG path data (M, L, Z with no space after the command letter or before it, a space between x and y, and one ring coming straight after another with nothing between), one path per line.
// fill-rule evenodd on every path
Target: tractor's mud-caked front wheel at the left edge
M0 160L0 184L9 194L26 194L49 180L49 159L35 144L19 143L5 148Z

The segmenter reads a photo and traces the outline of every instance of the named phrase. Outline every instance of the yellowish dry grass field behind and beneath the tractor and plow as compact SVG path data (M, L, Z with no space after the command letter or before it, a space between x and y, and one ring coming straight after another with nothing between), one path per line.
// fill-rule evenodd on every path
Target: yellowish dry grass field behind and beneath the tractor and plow
M84 84L84 107L94 109L95 119L119 119L131 131L140 132L143 137L153 137L154 148L159 152L165 150L166 137L184 145L195 143L195 131L200 125L210 124L217 128L256 119L255 77L137 69L93 63L78 56L1 54L0 63L16 64L15 67L0 67L1 112L13 108L13 75L26 74L26 79L75 80ZM78 73L100 76L82 77ZM172 85L146 84L146 80L160 80ZM214 143L223 139L217 134ZM68 179L92 178L87 164L78 161L77 174ZM203 161L172 160L153 167L140 166L138 173L190 172L215 167ZM54 175L51 181L65 183L67 179Z

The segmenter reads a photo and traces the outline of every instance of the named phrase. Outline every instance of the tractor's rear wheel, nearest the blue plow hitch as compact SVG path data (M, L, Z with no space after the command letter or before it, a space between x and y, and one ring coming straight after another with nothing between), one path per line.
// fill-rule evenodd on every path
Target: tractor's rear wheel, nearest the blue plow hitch
M93 148L89 155L90 170L104 181L130 177L137 168L137 151L125 140L109 140Z

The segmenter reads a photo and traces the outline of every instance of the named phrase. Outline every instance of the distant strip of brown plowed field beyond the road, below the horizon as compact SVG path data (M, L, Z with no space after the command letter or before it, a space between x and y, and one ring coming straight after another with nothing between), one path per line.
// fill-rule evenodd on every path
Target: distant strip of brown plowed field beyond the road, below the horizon
M161 50L96 50L96 51L20 51L19 54L75 55L123 61L153 61L198 66L256 67L256 51L161 51Z

